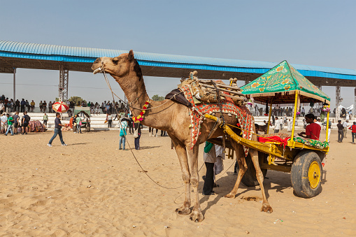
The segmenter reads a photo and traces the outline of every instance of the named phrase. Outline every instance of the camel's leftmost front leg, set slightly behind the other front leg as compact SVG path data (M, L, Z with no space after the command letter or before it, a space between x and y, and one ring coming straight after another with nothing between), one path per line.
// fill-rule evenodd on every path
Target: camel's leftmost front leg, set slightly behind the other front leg
M178 159L180 162L180 168L182 169L183 181L185 184L185 200L183 206L176 209L176 212L180 215L188 215L192 211L190 210L190 172L187 159L187 151L185 150L185 145L181 145L179 141L172 138L172 143L176 149Z

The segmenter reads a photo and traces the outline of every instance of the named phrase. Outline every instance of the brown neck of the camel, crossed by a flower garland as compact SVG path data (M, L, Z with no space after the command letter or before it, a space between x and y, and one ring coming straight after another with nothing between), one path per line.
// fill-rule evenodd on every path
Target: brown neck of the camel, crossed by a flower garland
M122 78L118 78L115 75L112 76L117 82L119 82L120 87L124 91L124 94L126 95L127 100L129 102L132 115L134 117L137 117L141 113L145 101L150 101L150 104L148 106L149 110L146 110L144 119L141 123L148 127L165 129L167 123L166 121L168 121L168 118L166 120L166 117L162 116L162 113L160 112L162 110L165 110L165 108L168 108L168 106L171 106L172 102L165 103L163 106L160 106L166 100L150 100L145 89L143 77L137 76L135 71L130 71L127 76L124 76ZM156 108L157 106L159 106L159 108Z

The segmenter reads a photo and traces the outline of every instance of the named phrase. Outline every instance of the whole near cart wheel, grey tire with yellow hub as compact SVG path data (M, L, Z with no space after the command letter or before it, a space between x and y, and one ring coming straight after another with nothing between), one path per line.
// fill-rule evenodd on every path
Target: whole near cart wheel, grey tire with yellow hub
M322 191L322 164L318 154L303 150L292 164L291 181L297 196L309 199Z

